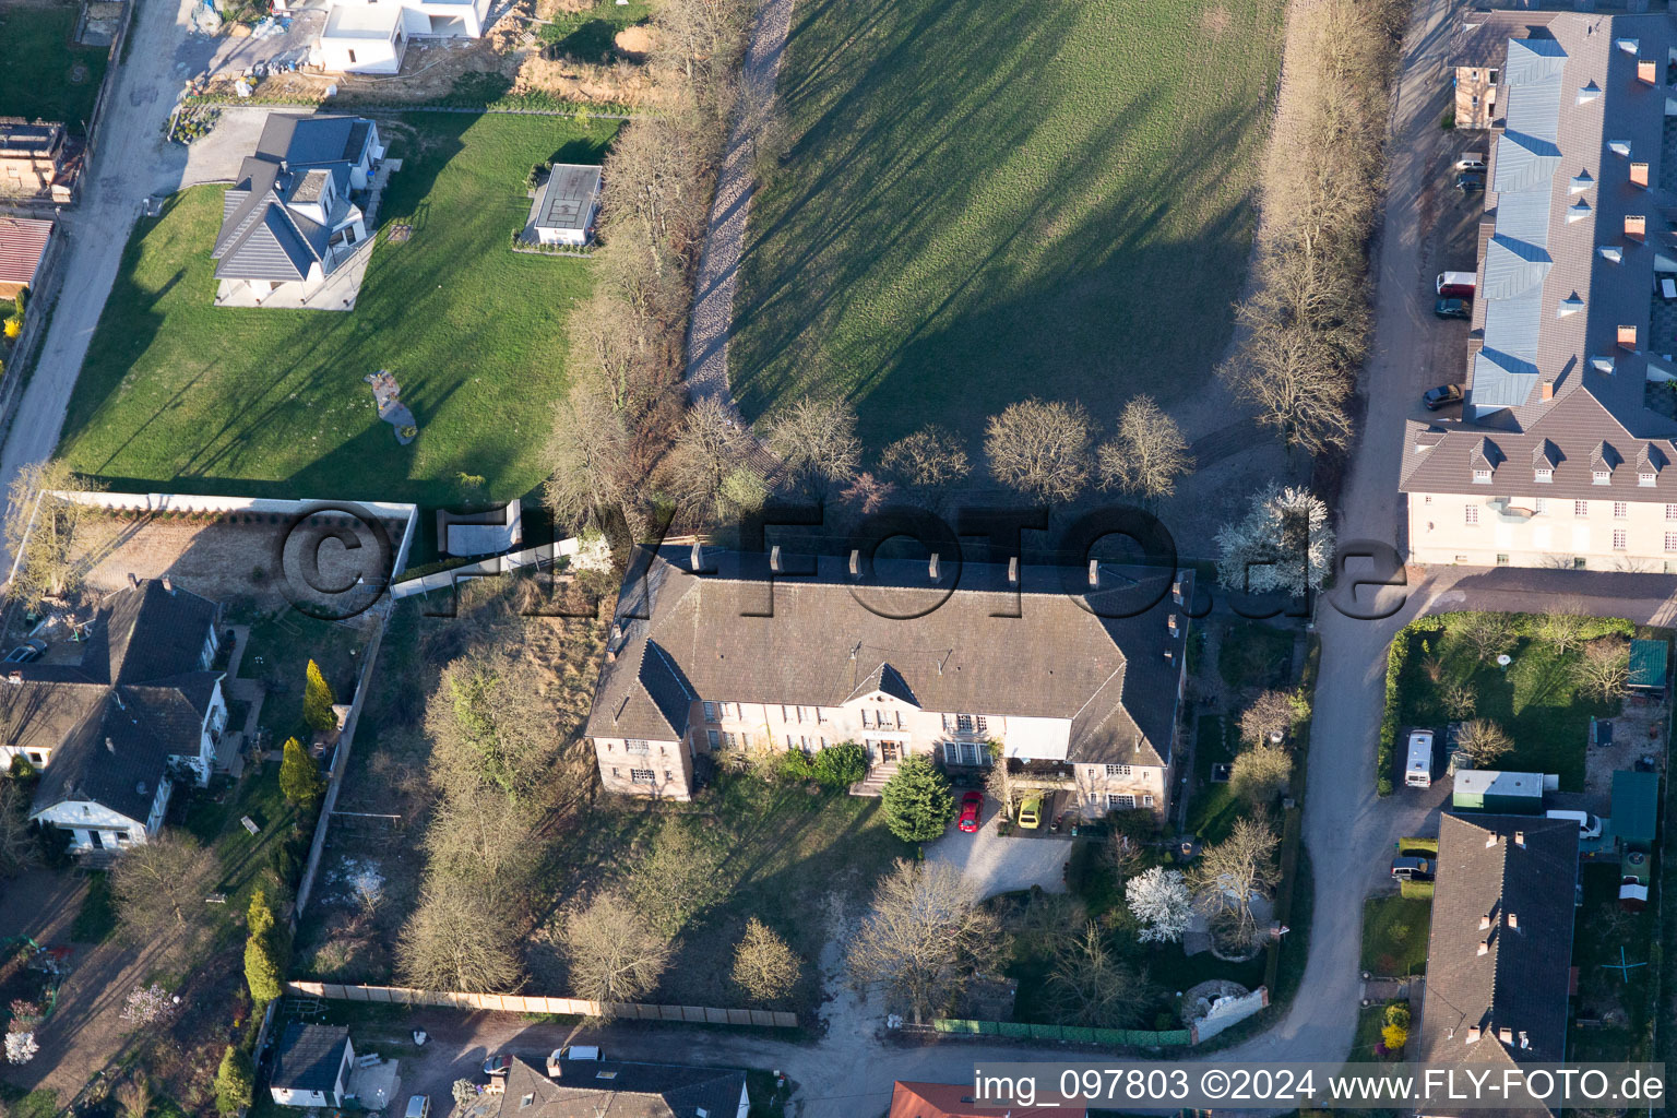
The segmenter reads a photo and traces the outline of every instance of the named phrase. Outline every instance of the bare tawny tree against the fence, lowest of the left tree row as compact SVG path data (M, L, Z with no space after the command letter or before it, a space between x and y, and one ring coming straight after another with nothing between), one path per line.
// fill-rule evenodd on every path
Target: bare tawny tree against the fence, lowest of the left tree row
M396 974L426 991L510 992L522 979L517 929L478 883L433 875L396 940Z

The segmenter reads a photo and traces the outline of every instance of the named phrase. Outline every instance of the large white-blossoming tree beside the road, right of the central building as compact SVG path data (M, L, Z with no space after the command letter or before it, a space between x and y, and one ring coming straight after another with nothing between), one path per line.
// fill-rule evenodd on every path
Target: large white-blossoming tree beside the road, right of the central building
M1333 565L1328 506L1310 489L1269 484L1244 520L1218 531L1218 577L1231 590L1318 590Z

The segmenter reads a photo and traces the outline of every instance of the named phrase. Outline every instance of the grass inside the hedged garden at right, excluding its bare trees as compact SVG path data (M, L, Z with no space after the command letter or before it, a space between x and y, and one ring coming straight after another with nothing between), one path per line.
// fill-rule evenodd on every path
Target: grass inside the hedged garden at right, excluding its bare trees
M1509 652L1513 664L1498 667L1479 660L1449 632L1410 634L1409 660L1402 675L1399 724L1444 729L1449 714L1441 704L1442 689L1457 681L1471 682L1477 694L1476 717L1491 719L1514 739L1514 751L1498 764L1516 773L1558 773L1565 791L1583 791L1585 739L1590 717L1618 714L1618 702L1598 702L1578 694L1576 664L1581 652L1560 654L1541 640L1519 640ZM1430 652L1429 652L1430 650ZM1439 664L1437 682L1427 659ZM1404 764L1402 741L1394 764ZM1402 774L1395 779L1402 779Z

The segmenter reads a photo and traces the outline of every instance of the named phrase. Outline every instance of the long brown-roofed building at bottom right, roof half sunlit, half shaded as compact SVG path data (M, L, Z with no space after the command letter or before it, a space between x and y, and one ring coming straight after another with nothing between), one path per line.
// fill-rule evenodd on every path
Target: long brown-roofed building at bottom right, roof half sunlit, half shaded
M1576 883L1573 820L1444 815L1415 1061L1565 1061Z

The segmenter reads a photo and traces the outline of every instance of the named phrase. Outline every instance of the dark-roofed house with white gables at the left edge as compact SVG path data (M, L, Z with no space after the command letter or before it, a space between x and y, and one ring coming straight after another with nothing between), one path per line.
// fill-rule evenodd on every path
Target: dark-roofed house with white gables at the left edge
M99 603L79 660L0 677L0 764L40 769L30 818L69 831L74 853L153 838L176 781L210 783L226 726L216 617L168 578L136 580Z

